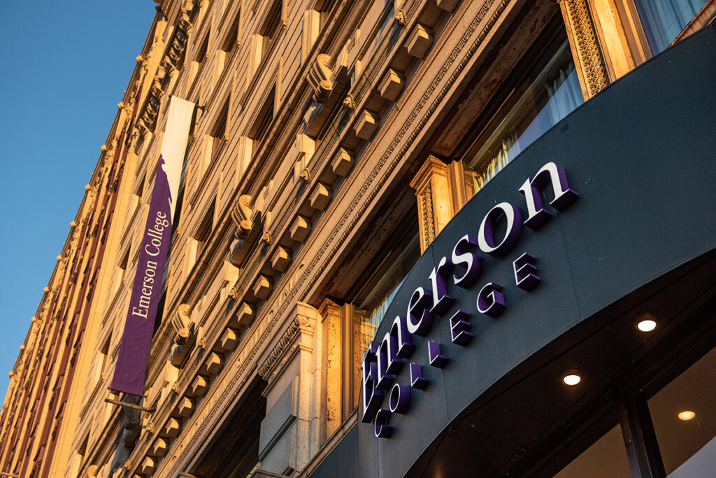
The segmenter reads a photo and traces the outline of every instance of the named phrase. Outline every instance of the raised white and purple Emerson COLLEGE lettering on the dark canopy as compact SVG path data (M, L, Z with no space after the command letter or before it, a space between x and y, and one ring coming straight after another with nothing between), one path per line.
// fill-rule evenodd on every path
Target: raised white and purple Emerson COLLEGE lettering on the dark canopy
M556 163L546 163L535 174L527 178L518 191L525 196L527 219L523 212L508 202L495 205L483 217L477 236L465 234L453 246L452 252L437 261L427 279L430 288L417 287L407 303L406 314L397 315L381 341L372 341L364 355L362 365L362 409L361 421L374 421L375 436L389 438L392 426L388 425L391 414L405 414L410 408L411 389L422 390L427 379L422 376L422 365L409 363L410 385L393 383L395 375L402 370L403 359L410 358L415 351L412 335L425 337L432 328L436 317L448 312L455 302L448 295L448 280L468 290L475 285L483 269L483 259L473 251L477 249L493 257L503 257L516 245L523 225L531 229L548 221L551 214L543 209L541 190L551 185L554 199L550 205L559 211L565 209L579 194L569 188L563 168ZM504 236L495 238L495 225L499 220L505 223ZM540 278L536 275L535 257L525 252L513 261L515 283L523 290L531 290ZM497 317L505 309L505 296L502 286L487 282L480 287L475 306L480 314ZM450 340L458 345L467 345L473 334L470 333L470 312L457 310L450 316ZM440 343L427 341L427 355L431 366L442 368L448 358L440 353ZM387 408L382 408L387 395Z

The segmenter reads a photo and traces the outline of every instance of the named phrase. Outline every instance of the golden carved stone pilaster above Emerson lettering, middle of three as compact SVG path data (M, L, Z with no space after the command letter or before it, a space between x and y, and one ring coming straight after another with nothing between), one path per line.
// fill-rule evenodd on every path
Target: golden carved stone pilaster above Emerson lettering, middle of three
M410 187L417 196L420 252L424 252L455 214L448 165L435 156L428 156L410 181Z

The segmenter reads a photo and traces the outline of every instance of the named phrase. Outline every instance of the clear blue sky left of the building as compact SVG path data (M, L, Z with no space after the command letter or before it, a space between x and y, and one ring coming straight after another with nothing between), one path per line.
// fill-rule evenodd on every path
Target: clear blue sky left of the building
M0 396L155 16L151 0L13 1L0 16Z

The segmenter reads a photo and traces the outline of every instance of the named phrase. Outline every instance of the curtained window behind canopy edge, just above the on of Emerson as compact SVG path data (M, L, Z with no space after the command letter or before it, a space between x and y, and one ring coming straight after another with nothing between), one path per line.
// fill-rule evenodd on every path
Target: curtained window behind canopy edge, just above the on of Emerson
M569 43L561 39L513 88L465 158L473 193L582 102Z

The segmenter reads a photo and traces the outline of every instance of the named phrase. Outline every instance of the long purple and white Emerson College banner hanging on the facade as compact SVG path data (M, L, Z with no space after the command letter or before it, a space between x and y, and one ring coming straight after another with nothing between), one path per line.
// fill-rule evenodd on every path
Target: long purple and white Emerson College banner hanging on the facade
M194 103L172 97L112 390L142 396Z

